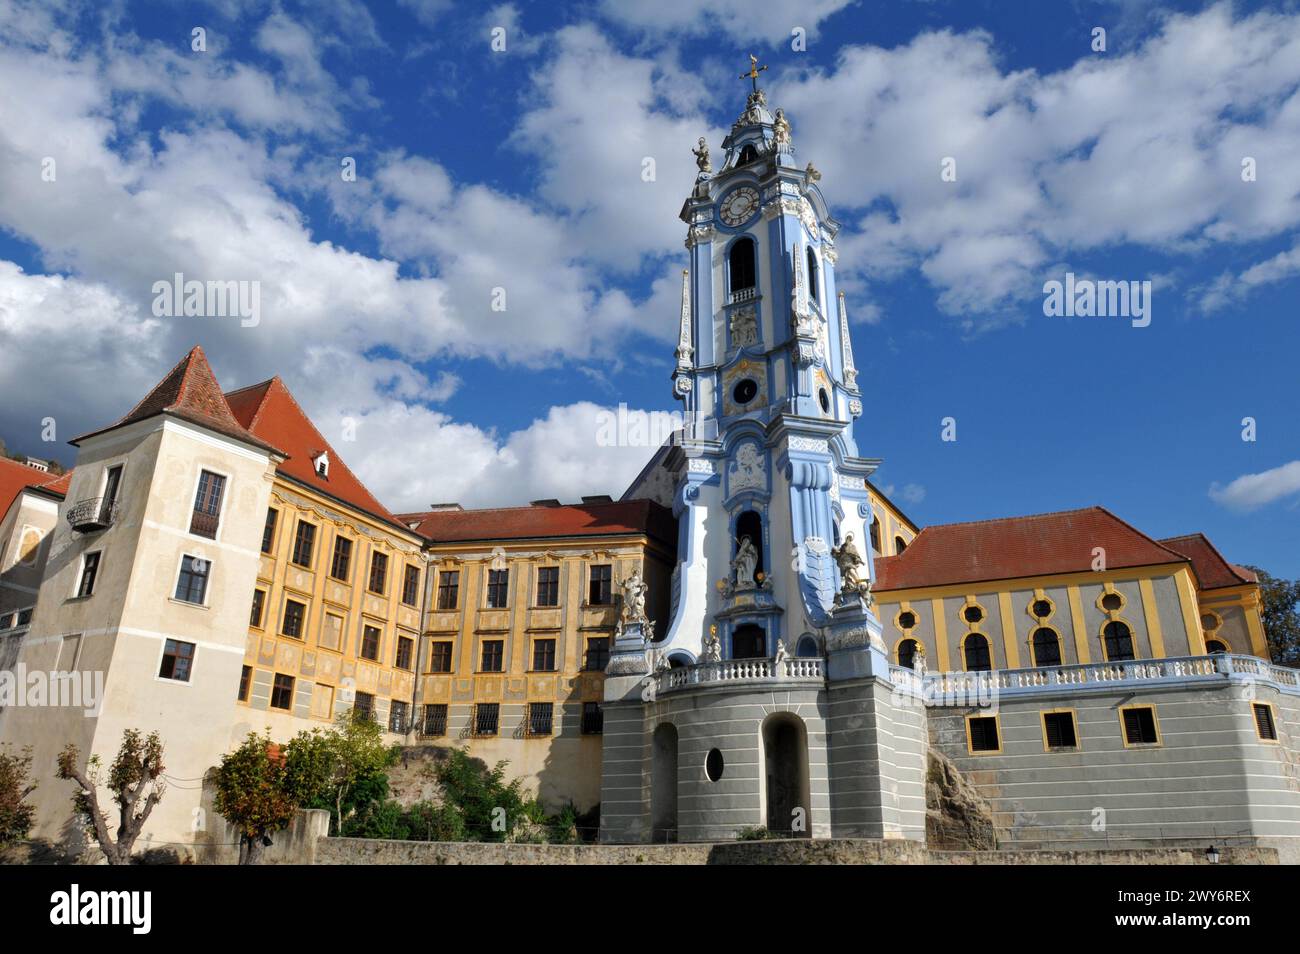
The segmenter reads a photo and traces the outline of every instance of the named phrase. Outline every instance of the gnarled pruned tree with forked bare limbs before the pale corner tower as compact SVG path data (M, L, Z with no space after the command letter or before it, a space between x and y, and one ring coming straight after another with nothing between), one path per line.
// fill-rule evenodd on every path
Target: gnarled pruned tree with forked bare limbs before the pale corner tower
M131 847L140 837L153 806L166 792L162 780L162 740L159 733L148 737L138 729L122 733L122 745L108 769L108 790L117 805L117 837L108 832L108 819L99 805L100 760L92 755L86 768L81 768L81 751L69 743L58 754L57 777L75 781L81 790L73 795L73 806L86 820L100 850L109 864L130 864ZM143 803L140 802L143 798Z

